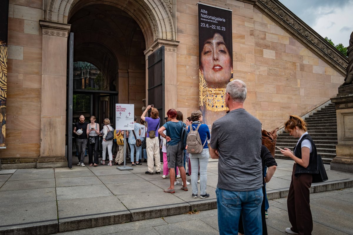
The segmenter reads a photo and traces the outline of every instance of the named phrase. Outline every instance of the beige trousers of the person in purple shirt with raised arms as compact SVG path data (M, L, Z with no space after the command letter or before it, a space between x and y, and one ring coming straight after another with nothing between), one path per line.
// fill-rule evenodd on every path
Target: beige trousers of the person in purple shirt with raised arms
M146 137L147 167L149 172L153 172L153 160L156 164L156 172L161 172L161 157L159 155L158 140L158 137L155 137L153 139Z

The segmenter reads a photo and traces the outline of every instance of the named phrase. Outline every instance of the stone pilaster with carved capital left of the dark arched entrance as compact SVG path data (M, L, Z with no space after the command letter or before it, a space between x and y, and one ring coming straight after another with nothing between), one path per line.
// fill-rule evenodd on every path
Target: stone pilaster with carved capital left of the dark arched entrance
M43 35L41 147L37 168L67 166L66 64L71 25L40 20Z

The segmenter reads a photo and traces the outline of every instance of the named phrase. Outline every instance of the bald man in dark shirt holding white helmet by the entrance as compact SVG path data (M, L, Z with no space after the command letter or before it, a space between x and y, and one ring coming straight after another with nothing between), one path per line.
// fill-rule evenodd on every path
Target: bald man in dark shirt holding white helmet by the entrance
M77 166L85 166L83 163L85 161L85 153L86 153L86 146L87 146L87 125L88 122L85 122L85 117L83 115L80 116L79 122L75 124L73 128L73 133L77 135L76 131L82 130L81 135L77 135L76 138L76 148L78 152L78 164Z

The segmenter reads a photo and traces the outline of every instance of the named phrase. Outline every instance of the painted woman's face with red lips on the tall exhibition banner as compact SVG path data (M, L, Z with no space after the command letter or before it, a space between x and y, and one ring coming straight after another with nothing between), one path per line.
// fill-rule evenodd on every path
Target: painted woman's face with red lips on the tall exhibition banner
M231 79L233 61L219 33L204 43L200 68L208 87L225 88Z

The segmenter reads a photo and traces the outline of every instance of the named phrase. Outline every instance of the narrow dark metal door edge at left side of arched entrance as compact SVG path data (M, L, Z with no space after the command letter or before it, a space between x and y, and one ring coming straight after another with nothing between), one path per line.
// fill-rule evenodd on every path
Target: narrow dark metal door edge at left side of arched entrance
M67 84L67 167L72 168L72 97L73 97L73 33L68 43L68 84Z

